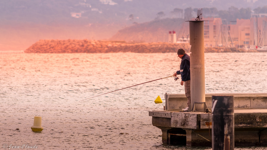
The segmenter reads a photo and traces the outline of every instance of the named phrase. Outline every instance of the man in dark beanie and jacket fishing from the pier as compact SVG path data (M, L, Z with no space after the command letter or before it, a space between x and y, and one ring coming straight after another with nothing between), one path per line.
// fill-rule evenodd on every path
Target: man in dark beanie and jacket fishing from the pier
M176 71L173 76L181 74L181 85L185 84L185 96L187 97L187 107L182 111L187 111L191 104L191 90L190 90L190 56L185 53L185 50L180 48L177 55L181 58L180 70Z

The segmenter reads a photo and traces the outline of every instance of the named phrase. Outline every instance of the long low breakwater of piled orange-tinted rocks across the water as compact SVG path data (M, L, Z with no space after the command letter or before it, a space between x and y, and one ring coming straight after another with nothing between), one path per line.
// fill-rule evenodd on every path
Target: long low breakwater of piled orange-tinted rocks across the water
M24 52L26 53L107 53L107 52L137 52L165 53L177 52L183 48L189 53L189 43L127 43L125 41L96 40L40 40ZM205 52L256 52L237 48L205 47Z

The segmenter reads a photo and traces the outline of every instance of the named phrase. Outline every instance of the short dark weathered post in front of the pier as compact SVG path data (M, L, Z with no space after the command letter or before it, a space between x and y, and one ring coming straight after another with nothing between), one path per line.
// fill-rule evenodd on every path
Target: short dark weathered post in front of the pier
M234 150L233 96L212 96L212 149Z

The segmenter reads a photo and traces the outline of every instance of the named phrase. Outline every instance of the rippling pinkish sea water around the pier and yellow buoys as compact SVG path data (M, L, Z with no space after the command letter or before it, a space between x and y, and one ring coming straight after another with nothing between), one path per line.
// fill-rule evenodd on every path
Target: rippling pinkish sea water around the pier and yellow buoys
M148 111L165 106L154 103L158 95L165 102L166 92L184 93L180 79L170 77L83 100L172 75L179 64L175 53L0 53L0 144L210 150L163 145L161 130L148 116ZM206 93L266 93L266 74L267 53L205 53ZM31 131L34 116L42 116L42 132Z

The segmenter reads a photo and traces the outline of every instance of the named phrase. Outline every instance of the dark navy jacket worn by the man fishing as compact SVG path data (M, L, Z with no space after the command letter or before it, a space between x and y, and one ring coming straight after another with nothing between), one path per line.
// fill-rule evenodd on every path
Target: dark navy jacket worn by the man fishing
M190 80L190 56L185 54L182 57L180 70L176 71L177 74L181 74L182 81Z

